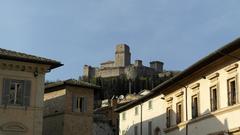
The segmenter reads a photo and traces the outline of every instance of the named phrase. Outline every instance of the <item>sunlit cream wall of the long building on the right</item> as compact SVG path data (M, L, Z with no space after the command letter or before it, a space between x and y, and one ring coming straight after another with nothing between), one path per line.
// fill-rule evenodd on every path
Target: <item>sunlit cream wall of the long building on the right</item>
M240 104L238 102L237 105L228 106L228 97L227 97L227 80L233 76L237 76L237 88L238 88L238 99L240 99L240 78L239 78L239 72L240 67L238 66L236 69L233 69L231 73L227 72L225 69L229 67L230 65L238 64L240 65L240 62L233 62L233 61L218 61L215 63L215 65L210 65L211 68L209 69L203 69L203 70L209 70L206 75L206 79L202 78L201 76L198 77L200 79L196 79L197 77L193 75L193 82L191 82L191 78L188 81L185 82L191 82L186 83L185 86L187 88L187 102L188 102L188 122L186 122L186 106L185 106L185 88L173 88L171 89L171 93L165 94L165 100L161 99L162 95L159 95L155 98L152 98L151 100L153 109L148 110L148 101L144 102L142 104L143 106L143 114L142 114L142 121L143 121L143 135L147 135L148 131L148 121L152 121L152 130L154 130L156 127L159 127L161 129L162 134L166 135L185 135L186 131L186 123L188 123L188 134L189 135L207 135L214 132L219 131L228 131L235 128L240 127L240 121L239 121L239 114L240 114ZM206 72L205 72L206 73ZM209 80L209 76L212 74L219 73L219 76L215 78L215 81ZM197 73L196 73L197 74ZM199 83L198 88L192 89L194 85ZM214 84L218 84L219 86L219 109L216 112L210 112L210 87ZM170 90L168 90L170 91ZM183 92L182 95L179 94L180 92ZM196 119L192 119L192 107L191 107L191 98L192 95L199 92L199 117ZM177 95L181 95L180 97L177 97ZM167 102L166 100L170 97L173 98L171 102ZM176 103L179 101L182 101L183 103L183 118L184 122L176 125ZM167 106L171 105L173 109L173 115L172 115L172 126L171 128L166 129L166 108ZM140 108L140 105L138 105ZM131 135L134 133L134 126L135 124L138 125L139 134L140 134L140 110L139 110L139 116L135 116L134 109L135 107L126 110L122 113L120 113L120 135L122 135L122 131L128 131L127 135ZM126 120L122 120L122 114L126 113ZM154 134L154 132L153 132Z

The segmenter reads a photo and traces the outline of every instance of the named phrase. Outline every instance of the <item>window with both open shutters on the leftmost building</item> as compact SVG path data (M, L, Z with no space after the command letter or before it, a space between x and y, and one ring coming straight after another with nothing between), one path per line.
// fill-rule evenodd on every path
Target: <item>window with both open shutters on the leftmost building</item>
M13 106L30 105L31 81L3 80L2 104Z

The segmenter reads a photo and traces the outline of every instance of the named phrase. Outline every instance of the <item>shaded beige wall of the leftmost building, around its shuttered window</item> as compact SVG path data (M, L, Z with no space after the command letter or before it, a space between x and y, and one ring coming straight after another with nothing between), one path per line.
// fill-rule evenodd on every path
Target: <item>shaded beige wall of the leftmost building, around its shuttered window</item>
M15 135L17 132L5 132L2 131L4 125L12 124L21 125L25 131L23 135L42 135L43 124L43 95L44 95L44 79L45 79L45 66L24 62L6 61L0 60L2 64L0 66L0 135ZM6 65L5 65L6 64ZM17 65L17 66L16 66ZM20 68L26 68L25 71L21 71ZM39 74L34 77L32 68L39 68ZM40 70L43 69L41 72ZM3 79L17 79L17 80L30 80L31 81L31 96L30 106L18 107L8 105L5 108L1 104ZM14 124L15 123L15 124Z

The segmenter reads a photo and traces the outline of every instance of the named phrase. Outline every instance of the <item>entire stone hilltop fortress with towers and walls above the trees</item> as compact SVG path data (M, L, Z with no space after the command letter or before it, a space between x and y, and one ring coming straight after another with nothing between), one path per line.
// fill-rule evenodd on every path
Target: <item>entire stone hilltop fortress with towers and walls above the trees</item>
M150 67L144 66L142 60L135 60L131 64L130 48L126 44L116 46L115 60L101 63L100 67L92 67L85 65L83 68L83 76L87 78L93 77L118 77L125 75L129 79L135 77L149 77L163 73L163 62L152 61Z

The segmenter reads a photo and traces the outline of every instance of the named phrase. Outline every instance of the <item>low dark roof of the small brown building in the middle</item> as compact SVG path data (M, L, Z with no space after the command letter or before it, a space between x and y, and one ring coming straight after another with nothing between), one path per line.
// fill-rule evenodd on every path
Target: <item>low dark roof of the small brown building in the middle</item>
M76 86L76 87L83 87L83 88L90 88L90 89L101 89L100 86L92 84L92 83L78 81L75 79L69 79L66 81L57 81L57 82L46 84L45 85L45 93L48 93L49 89L57 88L57 87L61 87L61 86Z

